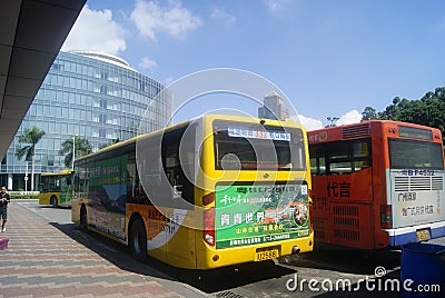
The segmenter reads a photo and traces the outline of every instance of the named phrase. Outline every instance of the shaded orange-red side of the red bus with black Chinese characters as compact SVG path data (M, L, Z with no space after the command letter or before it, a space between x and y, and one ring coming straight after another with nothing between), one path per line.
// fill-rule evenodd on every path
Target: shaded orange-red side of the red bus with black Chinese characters
M320 143L312 153L315 239L374 248L369 140Z

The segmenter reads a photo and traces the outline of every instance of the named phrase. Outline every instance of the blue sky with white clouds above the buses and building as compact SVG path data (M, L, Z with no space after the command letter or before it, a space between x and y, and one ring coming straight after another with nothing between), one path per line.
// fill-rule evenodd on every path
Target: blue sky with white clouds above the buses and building
M444 1L411 0L88 0L62 49L119 56L165 85L204 69L251 71L310 129L444 86L443 11ZM256 113L222 98L197 100L180 118L221 102Z

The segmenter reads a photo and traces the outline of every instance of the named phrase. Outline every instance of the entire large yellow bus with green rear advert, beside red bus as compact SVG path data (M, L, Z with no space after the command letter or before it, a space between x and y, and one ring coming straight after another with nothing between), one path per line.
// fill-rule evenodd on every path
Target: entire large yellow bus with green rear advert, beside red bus
M291 120L204 115L77 159L72 221L189 269L312 251L308 165Z

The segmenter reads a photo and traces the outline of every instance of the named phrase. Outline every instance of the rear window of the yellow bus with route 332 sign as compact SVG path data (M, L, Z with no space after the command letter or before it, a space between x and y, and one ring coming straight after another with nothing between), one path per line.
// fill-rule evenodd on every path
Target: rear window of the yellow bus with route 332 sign
M305 170L303 131L233 121L214 122L217 170Z

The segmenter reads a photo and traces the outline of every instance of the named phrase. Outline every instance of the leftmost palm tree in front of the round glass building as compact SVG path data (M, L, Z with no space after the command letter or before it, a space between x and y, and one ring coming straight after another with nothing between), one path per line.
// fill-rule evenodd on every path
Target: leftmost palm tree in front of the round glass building
M34 190L34 161L36 161L36 145L43 137L44 130L37 127L26 128L23 133L19 136L20 143L28 143L17 152L17 158L21 160L26 156L26 161L31 161L31 191Z

